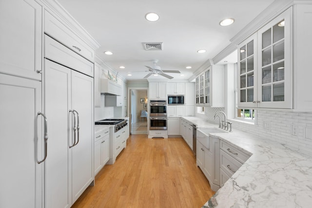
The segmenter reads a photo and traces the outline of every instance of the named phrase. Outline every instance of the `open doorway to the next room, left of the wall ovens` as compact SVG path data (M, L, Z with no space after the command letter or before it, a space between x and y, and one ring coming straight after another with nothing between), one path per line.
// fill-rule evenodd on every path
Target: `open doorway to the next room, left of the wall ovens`
M148 134L148 89L129 89L130 134Z

